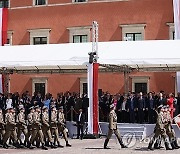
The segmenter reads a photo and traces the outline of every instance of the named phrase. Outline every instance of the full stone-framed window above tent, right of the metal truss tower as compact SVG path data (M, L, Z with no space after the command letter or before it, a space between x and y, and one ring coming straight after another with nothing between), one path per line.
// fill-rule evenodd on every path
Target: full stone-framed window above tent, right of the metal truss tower
M120 25L122 28L123 41L140 41L144 40L144 29L146 24L129 24Z

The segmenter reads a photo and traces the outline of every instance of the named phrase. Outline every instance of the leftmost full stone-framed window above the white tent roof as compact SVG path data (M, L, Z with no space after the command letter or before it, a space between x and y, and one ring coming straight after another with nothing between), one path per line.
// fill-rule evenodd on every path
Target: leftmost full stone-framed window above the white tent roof
M30 33L30 45L49 44L49 35L51 29L33 29Z

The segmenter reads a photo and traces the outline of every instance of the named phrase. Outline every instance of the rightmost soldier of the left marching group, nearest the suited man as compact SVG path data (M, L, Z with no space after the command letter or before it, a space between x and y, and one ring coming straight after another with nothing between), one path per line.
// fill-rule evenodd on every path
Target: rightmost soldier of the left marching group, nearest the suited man
M58 129L59 132L62 132L64 139L66 141L66 146L71 147L71 145L68 143L68 138L67 138L67 132L66 132L66 125L65 125L65 117L63 113L63 106L59 108L59 113L58 113Z

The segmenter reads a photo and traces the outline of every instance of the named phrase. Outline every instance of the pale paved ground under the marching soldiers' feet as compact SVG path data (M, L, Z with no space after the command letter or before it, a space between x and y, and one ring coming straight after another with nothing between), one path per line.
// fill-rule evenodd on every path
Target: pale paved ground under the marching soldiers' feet
M124 140L126 142L126 140ZM103 143L104 143L104 138L103 139L84 139L84 140L77 140L73 139L70 140L70 143L72 144L71 148L64 147L63 149L49 149L47 151L41 150L41 149L2 149L0 148L0 154L59 154L59 153L64 153L64 154L163 154L163 153L168 153L168 154L179 154L180 149L178 150L173 150L173 151L166 151L165 149L160 149L160 150L154 150L154 151L148 151L147 150L147 142L139 142L133 140L129 144L128 149L121 149L119 144L117 143L116 139L111 139L109 142L109 147L111 149L105 150L103 149ZM62 140L62 144L64 141Z

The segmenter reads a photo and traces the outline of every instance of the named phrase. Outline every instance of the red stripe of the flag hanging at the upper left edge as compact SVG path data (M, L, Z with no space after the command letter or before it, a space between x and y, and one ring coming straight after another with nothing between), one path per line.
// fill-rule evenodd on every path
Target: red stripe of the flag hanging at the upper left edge
M8 9L3 8L2 13L2 45L7 43Z

